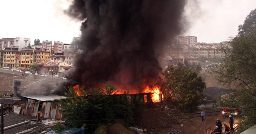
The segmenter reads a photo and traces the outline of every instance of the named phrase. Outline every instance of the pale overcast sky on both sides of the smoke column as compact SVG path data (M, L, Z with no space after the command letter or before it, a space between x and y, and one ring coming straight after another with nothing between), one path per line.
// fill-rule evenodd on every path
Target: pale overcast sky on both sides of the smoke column
M185 8L190 26L183 35L198 42L219 43L238 33L238 26L256 8L256 0L197 0ZM29 37L70 43L80 35L80 24L62 10L70 0L0 0L0 38ZM193 8L191 8L193 7Z

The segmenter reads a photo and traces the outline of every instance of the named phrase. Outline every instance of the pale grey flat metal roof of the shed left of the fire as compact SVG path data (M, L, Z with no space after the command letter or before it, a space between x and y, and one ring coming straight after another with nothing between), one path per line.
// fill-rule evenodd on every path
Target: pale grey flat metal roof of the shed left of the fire
M59 99L66 99L67 97L64 96L59 96L59 95L34 95L34 96L24 96L25 98L28 99L34 99L34 100L40 100L40 101L56 101Z

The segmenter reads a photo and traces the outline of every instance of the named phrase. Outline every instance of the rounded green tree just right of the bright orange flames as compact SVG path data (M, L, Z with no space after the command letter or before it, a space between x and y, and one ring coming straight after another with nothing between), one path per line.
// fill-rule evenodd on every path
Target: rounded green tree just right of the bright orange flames
M186 67L169 66L163 73L161 87L165 101L172 101L184 112L191 112L202 102L206 84L198 73Z

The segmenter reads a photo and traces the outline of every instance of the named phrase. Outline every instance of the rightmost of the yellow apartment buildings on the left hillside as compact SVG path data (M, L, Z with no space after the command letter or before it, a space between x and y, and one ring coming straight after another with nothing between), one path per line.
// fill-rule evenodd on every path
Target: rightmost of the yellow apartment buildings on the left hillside
M35 48L34 50L34 62L48 61L50 57L49 49Z

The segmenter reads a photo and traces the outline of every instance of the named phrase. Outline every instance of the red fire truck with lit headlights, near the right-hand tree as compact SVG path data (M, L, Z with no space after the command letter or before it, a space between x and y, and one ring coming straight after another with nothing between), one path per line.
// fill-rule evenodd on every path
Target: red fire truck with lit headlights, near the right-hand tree
M230 93L221 96L222 101L222 114L225 116L232 115L236 116L240 113L240 108L236 104L237 93Z

